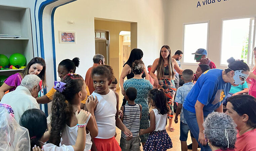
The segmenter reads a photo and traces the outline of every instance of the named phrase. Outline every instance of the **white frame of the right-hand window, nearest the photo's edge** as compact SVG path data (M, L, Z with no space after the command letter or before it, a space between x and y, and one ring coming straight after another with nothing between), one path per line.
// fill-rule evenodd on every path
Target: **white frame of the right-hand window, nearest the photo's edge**
M220 67L227 67L227 65L226 64L221 64L221 59L222 59L222 36L223 36L223 21L224 20L232 20L232 19L242 19L242 18L254 18L254 31L253 31L253 40L252 40L252 44L253 44L253 46L252 46L252 50L250 50L250 52L248 52L247 53L247 63L249 62L249 59L250 59L250 53L252 53L251 51L253 51L253 48L255 47L255 33L256 33L256 31L255 31L255 29L256 29L256 15L251 15L251 16L240 16L240 17L232 17L232 18L222 18L222 27L221 27L221 40L220 40L220 42L221 42L221 45L220 45ZM251 27L251 21L252 20L250 20L250 26L249 26L249 38L248 38L248 49L251 47L251 43L250 43L250 41L251 41L251 37L252 37L252 27ZM231 56L230 56L231 57ZM252 60L252 62L251 62L251 65L248 65L250 68L253 68L253 64L254 64L254 55L252 55L252 58L251 58L251 60Z

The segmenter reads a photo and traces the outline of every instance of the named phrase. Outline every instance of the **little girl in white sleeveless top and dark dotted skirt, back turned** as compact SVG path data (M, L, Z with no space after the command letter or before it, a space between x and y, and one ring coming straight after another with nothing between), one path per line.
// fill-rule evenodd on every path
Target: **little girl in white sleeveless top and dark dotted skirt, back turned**
M167 114L170 112L167 107L167 97L163 89L152 89L149 92L149 101L153 107L150 111L150 127L140 130L140 135L149 134L144 145L144 151L162 151L173 147L171 138L166 132Z

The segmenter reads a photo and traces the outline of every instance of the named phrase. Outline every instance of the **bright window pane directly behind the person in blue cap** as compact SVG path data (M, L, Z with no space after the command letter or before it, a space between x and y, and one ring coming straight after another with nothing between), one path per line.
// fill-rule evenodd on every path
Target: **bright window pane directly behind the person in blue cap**
M207 50L208 24L209 22L184 24L184 63L196 63L194 60L194 55L191 53L194 53L199 48L204 48Z

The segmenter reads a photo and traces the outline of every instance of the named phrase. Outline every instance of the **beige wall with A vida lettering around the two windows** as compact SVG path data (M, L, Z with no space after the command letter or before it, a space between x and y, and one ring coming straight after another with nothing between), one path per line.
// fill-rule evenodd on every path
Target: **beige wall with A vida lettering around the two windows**
M168 34L165 42L171 47L172 53L183 49L183 23L210 20L208 57L214 61L217 68L225 68L220 66L222 19L256 15L256 0L221 0L221 2L216 0L215 3L205 6L200 1L201 7L198 8L196 8L197 0L170 0L168 2L166 12ZM194 56L191 55L191 57ZM182 65L182 68L191 68L195 71L197 65Z

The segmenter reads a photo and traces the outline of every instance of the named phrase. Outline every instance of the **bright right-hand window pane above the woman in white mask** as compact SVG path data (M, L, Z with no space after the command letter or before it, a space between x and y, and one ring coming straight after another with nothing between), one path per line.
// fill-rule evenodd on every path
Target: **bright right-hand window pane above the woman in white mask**
M255 46L255 17L226 19L222 21L221 65L227 65L227 59L243 59L253 65Z

